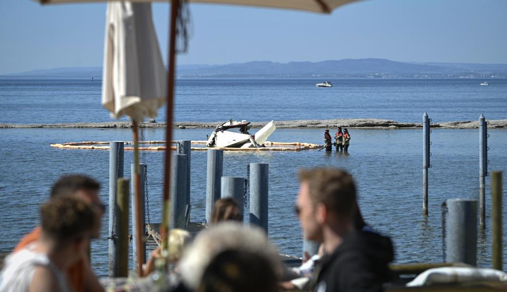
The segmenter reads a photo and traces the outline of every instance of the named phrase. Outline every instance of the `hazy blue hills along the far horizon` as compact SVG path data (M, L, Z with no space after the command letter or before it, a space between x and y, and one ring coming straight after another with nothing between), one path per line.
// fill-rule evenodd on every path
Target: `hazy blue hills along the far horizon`
M507 64L417 63L386 59L343 59L321 62L252 61L226 65L178 65L178 77L507 77ZM101 78L101 67L33 70L3 77Z

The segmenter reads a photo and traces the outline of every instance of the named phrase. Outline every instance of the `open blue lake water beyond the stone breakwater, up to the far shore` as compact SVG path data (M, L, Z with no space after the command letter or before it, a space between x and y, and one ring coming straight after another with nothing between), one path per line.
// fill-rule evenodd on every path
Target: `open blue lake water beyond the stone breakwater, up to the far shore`
M507 79L177 79L176 121L506 118ZM100 80L0 79L0 123L110 121ZM37 109L37 110L34 110ZM159 111L165 120L165 109Z

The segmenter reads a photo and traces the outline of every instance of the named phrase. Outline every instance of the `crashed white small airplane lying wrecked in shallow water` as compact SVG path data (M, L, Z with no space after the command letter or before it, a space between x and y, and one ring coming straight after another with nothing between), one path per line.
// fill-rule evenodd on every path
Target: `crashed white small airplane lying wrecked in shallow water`
M206 141L206 147L229 147L229 148L260 148L268 140L268 137L276 130L274 121L270 121L255 135L248 133L251 128L246 120L228 120L211 133ZM238 132L229 130L237 129Z

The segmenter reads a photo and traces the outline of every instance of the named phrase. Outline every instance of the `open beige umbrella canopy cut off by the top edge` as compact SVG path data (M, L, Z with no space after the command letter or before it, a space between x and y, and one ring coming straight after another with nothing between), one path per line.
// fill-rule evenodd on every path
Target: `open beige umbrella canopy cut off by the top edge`
M104 2L104 0L39 0L41 3ZM167 0L133 0L135 2L170 2ZM338 6L357 0L189 0L190 3L234 4L246 6L272 7L331 13Z

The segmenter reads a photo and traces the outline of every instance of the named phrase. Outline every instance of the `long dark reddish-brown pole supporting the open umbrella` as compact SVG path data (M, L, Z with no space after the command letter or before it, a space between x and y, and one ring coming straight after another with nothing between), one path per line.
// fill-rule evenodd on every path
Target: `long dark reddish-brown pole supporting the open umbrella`
M176 16L178 14L179 0L171 1L171 22L169 27L169 72L167 74L167 113L166 113L166 148L164 166L164 202L162 221L162 249L167 251L169 238L169 185L171 177L171 141L172 141L172 116L174 100L174 63L176 60Z

